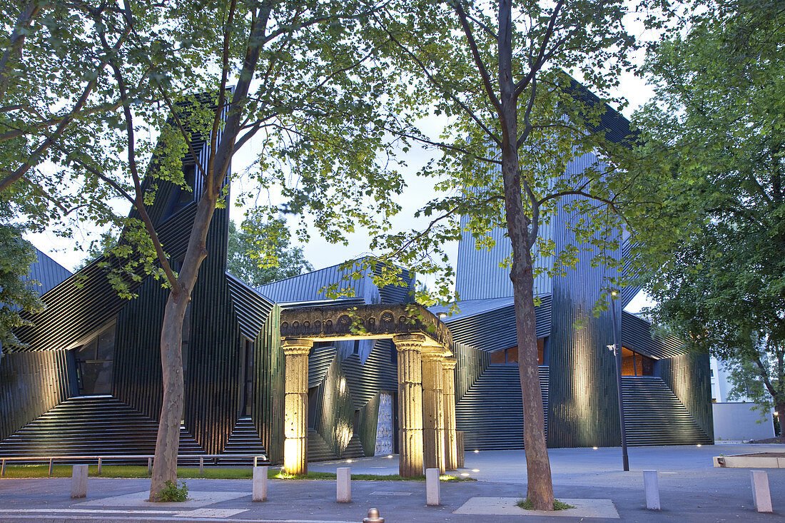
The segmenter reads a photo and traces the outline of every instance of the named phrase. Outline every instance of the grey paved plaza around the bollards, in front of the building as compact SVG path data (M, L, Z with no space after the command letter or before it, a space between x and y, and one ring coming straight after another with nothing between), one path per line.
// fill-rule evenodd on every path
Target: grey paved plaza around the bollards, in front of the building
M149 480L89 478L86 499L70 499L71 480L0 480L0 521L352 521L371 507L396 521L785 521L785 469L769 469L773 514L758 514L750 469L718 469L712 456L780 450L780 445L716 444L703 447L630 448L630 471L621 471L619 448L550 449L558 499L590 500L597 517L539 516L510 510L526 492L523 451L468 452L458 474L477 481L442 482L441 505L425 505L425 483L352 481L352 503L336 503L335 481L271 480L268 501L251 502L250 480L188 480L185 503L144 501ZM349 463L351 462L351 463ZM396 474L397 456L310 463L309 470ZM642 470L659 470L663 510L645 509ZM507 501L505 501L507 500ZM490 507L490 508L489 508ZM495 508L494 508L495 507ZM593 509L593 510L594 510ZM522 511L521 511L522 512Z

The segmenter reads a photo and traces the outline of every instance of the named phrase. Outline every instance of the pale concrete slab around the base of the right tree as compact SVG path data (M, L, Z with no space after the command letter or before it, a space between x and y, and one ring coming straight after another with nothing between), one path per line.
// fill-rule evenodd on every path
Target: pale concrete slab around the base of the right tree
M575 508L555 510L524 510L517 506L520 498L474 497L453 514L484 516L539 516L547 518L606 518L619 519L619 513L610 499L560 499Z

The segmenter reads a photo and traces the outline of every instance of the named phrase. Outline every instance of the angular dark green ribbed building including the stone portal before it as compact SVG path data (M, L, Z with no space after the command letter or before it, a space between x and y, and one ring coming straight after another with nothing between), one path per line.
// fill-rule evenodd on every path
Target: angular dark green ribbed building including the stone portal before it
M177 261L199 187L159 185L149 212ZM570 220L557 214L542 234L565 245L574 240ZM455 468L461 433L467 450L522 448L512 288L499 268L510 244L501 229L494 234L491 251L476 250L468 232L460 243L460 312L445 316L409 303L408 274L408 287L380 288L364 273L347 280L355 297L340 300L323 294L345 275L338 266L248 287L226 271L228 213L217 210L185 319L181 453L264 453L298 470L306 459L398 452L402 471L414 474L423 463ZM612 317L591 314L608 276L582 261L566 276L536 281L551 447L619 444L615 360L606 348ZM71 275L44 254L31 278L43 283L47 308L17 331L27 347L0 360L0 457L152 453L167 291L148 278L132 284L138 298L129 301L98 261ZM624 289L621 305L636 292ZM622 307L616 314L629 443L712 443L708 357L652 336Z

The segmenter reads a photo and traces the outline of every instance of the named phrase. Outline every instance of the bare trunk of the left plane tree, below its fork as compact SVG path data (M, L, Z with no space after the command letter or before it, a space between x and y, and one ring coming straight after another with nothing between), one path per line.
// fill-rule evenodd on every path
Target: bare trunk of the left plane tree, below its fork
M190 293L170 292L161 328L163 403L155 440L150 501L160 501L166 481L177 482L177 452L183 419L183 319Z

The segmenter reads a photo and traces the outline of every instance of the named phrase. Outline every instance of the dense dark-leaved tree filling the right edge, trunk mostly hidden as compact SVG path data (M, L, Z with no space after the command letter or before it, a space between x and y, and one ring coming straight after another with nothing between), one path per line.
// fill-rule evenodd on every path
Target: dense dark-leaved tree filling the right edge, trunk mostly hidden
M659 191L684 224L651 236L649 250L672 256L648 283L652 313L739 379L754 369L754 398L781 413L785 5L697 5L653 47L656 97L637 115L666 174Z

